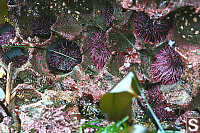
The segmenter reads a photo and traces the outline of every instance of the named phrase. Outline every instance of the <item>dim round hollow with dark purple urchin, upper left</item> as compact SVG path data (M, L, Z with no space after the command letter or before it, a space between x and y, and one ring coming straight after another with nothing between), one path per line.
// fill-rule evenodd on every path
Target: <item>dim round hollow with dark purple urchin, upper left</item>
M27 1L22 4L17 14L18 26L22 37L29 42L43 42L51 36L51 26L56 22L56 15L49 1ZM27 38L31 39L27 39ZM37 38L37 39L36 39Z

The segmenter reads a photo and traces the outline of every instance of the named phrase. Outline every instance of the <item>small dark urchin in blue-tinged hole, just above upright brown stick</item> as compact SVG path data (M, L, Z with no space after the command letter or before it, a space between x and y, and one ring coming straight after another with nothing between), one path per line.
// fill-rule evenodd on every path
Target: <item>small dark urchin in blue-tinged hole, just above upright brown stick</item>
M28 53L20 48L12 48L4 54L4 62L8 65L13 63L14 68L19 68L28 61Z

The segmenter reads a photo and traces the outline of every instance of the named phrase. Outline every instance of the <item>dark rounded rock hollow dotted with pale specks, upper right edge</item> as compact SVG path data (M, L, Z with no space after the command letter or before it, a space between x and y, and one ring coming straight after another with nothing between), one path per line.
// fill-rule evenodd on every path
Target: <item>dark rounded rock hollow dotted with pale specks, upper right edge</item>
M200 41L200 12L192 6L177 9L175 25L181 37L189 42L199 44Z

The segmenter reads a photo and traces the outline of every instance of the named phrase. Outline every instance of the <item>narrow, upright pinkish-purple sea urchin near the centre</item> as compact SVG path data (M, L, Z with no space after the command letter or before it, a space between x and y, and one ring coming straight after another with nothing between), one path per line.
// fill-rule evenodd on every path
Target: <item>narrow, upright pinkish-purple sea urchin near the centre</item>
M102 31L98 31L90 39L90 57L97 69L102 69L111 56L106 37Z

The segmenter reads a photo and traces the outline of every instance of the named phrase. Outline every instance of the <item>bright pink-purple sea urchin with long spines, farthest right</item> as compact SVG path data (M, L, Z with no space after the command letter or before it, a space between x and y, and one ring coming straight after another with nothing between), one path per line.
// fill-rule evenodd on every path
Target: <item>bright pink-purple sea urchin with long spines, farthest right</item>
M150 78L163 85L174 84L180 80L184 63L180 55L171 47L161 49L151 64Z

